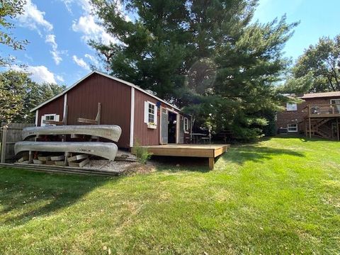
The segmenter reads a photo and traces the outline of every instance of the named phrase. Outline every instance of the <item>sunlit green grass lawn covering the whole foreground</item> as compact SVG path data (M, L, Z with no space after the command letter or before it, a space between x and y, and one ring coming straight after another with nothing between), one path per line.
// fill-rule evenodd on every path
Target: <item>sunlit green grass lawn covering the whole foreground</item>
M0 169L0 254L340 254L340 142L105 178Z

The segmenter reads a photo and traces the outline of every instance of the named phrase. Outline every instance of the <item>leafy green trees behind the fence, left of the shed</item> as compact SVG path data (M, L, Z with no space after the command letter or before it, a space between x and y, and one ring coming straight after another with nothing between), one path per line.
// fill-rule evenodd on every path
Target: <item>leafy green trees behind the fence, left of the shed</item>
M65 89L57 84L37 84L28 76L13 70L0 73L0 121L33 123L30 109Z

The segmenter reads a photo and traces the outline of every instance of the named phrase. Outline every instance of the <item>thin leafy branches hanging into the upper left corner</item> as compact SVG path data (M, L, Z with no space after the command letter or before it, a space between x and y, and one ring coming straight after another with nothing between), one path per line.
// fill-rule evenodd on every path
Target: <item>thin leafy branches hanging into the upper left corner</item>
M0 44L7 45L13 50L23 50L28 43L27 40L17 40L11 34L11 29L14 28L11 20L23 13L23 6L26 1L23 0L2 0L0 1ZM13 57L0 56L0 67L13 62Z

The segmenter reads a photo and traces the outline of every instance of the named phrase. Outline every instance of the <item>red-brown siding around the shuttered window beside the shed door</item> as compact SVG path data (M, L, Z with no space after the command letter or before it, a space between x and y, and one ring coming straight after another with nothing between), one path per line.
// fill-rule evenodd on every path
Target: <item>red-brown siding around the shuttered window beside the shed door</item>
M147 128L144 123L144 102L157 103L157 99L135 89L135 120L133 143L139 142L140 145L159 145L159 107L157 110L157 129ZM168 106L169 107L169 106Z

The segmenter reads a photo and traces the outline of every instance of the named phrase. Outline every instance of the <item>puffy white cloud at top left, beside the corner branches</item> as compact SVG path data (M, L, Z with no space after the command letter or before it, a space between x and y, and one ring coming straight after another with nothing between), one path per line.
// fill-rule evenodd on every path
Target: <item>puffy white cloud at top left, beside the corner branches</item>
M23 9L23 14L18 16L18 21L21 23L21 26L37 30L39 34L40 27L47 31L53 29L52 24L45 20L45 12L38 10L38 7L33 4L31 0L26 0L26 4L23 6Z

